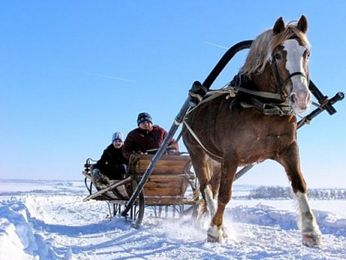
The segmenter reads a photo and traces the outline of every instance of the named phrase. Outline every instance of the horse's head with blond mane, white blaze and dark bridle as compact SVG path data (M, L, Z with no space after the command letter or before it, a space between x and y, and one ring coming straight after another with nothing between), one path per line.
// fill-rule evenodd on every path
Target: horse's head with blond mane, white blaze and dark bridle
M311 103L307 28L304 15L297 24L286 26L280 17L272 29L255 39L241 69L261 91L289 98L293 111L298 114L306 111Z

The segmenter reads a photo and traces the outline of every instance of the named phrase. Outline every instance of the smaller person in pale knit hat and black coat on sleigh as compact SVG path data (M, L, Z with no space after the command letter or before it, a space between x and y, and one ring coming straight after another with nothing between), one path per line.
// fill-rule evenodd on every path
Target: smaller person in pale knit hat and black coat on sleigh
M108 180L121 180L126 172L128 160L122 155L124 138L121 132L112 135L112 143L104 149L101 158L93 167L93 180L108 183Z

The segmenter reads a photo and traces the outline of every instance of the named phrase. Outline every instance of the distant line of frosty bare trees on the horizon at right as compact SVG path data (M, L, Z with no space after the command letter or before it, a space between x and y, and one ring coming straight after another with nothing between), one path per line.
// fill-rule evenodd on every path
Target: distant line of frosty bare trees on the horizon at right
M280 186L260 186L250 191L248 199L271 199L294 197L291 187ZM320 200L344 200L346 199L346 189L309 189L308 197Z

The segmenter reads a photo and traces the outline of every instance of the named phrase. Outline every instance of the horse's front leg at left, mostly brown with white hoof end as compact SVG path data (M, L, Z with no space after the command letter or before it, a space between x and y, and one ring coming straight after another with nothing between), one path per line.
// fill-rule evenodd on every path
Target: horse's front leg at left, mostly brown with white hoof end
M236 157L233 156L233 153L226 153L222 158L218 205L216 214L213 216L210 223L210 227L207 231L208 242L221 242L222 237L224 237L224 228L222 226L223 215L225 207L231 199L231 188L237 170L237 162L234 158Z

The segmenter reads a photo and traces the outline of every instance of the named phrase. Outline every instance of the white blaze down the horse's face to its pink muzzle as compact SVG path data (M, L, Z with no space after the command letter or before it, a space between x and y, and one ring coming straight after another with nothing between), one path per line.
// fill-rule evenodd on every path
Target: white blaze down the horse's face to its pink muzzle
M303 54L306 51L305 46L299 45L297 40L289 39L283 44L286 51L286 69L290 74L294 72L302 72L306 75L303 67ZM295 113L301 113L308 109L311 103L311 93L306 77L295 75L291 77L292 90L290 93L291 106Z

